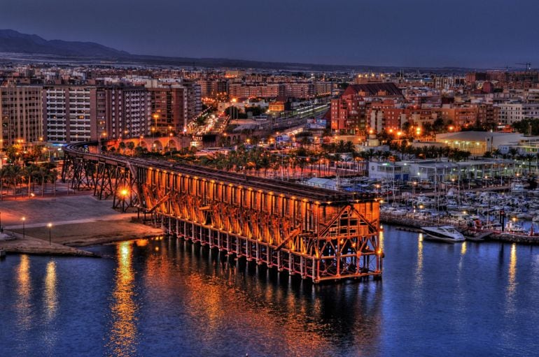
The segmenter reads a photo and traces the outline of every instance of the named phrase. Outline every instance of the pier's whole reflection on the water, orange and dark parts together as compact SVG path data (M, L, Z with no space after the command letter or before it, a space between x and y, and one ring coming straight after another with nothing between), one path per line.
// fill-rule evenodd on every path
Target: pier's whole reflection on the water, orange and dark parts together
M167 286L161 291L163 296L152 294L153 302L160 305L161 299L174 299L176 304L188 307L182 313L183 319L202 341L227 345L232 341L223 333L228 332L232 337L241 326L250 335L249 344L258 345L256 349L240 347L239 354L243 355L251 356L257 349L261 356L316 356L324 349L336 354L339 351L333 335L336 332L346 340L370 341L376 346L379 311L375 311L380 307L377 303L380 291L376 289L369 291L365 286L365 305L361 307L358 298L350 293L344 293L337 301L325 297L327 293L358 287L356 284L314 286L181 240L154 241L152 245L159 247L159 253L146 259L145 280L152 291ZM368 285L371 284L377 283ZM170 291L178 294L171 297ZM347 294L351 295L349 299L345 297ZM151 313L158 312L151 309ZM368 322L370 328L356 326L359 322L353 316L369 313L370 316L358 320ZM201 320L203 324L197 322ZM335 321L342 321L342 325L335 326ZM221 350L221 354L235 353L232 346L227 348L230 350Z

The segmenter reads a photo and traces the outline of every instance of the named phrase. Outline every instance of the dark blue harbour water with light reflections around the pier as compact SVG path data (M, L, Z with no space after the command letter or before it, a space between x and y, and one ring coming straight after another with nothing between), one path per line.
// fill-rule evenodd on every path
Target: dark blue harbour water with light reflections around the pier
M384 235L382 281L321 286L166 238L8 256L1 355L539 354L539 247Z

